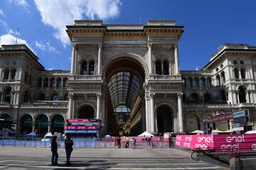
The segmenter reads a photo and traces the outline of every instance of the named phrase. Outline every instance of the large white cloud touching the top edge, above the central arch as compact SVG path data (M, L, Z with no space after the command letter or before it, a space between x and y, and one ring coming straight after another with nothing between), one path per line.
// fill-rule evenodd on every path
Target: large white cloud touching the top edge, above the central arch
M41 21L56 31L53 36L63 45L68 45L70 40L65 32L65 26L73 25L74 20L83 16L89 19L102 20L119 16L119 0L34 0Z

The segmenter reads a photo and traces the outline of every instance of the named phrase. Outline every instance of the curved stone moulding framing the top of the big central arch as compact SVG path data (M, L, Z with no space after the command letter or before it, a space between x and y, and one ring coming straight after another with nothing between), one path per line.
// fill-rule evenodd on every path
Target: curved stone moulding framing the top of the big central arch
M117 60L121 57L131 57L133 60L135 60L135 62L138 62L141 65L141 67L143 68L145 77L147 75L149 75L149 68L147 67L146 62L140 55L136 55L136 54L133 54L130 52L120 52L117 55L112 55L112 56L106 57L107 60L104 62L104 65L102 67L102 76L103 77L106 77L107 67L110 65L110 63L114 62L114 60Z

